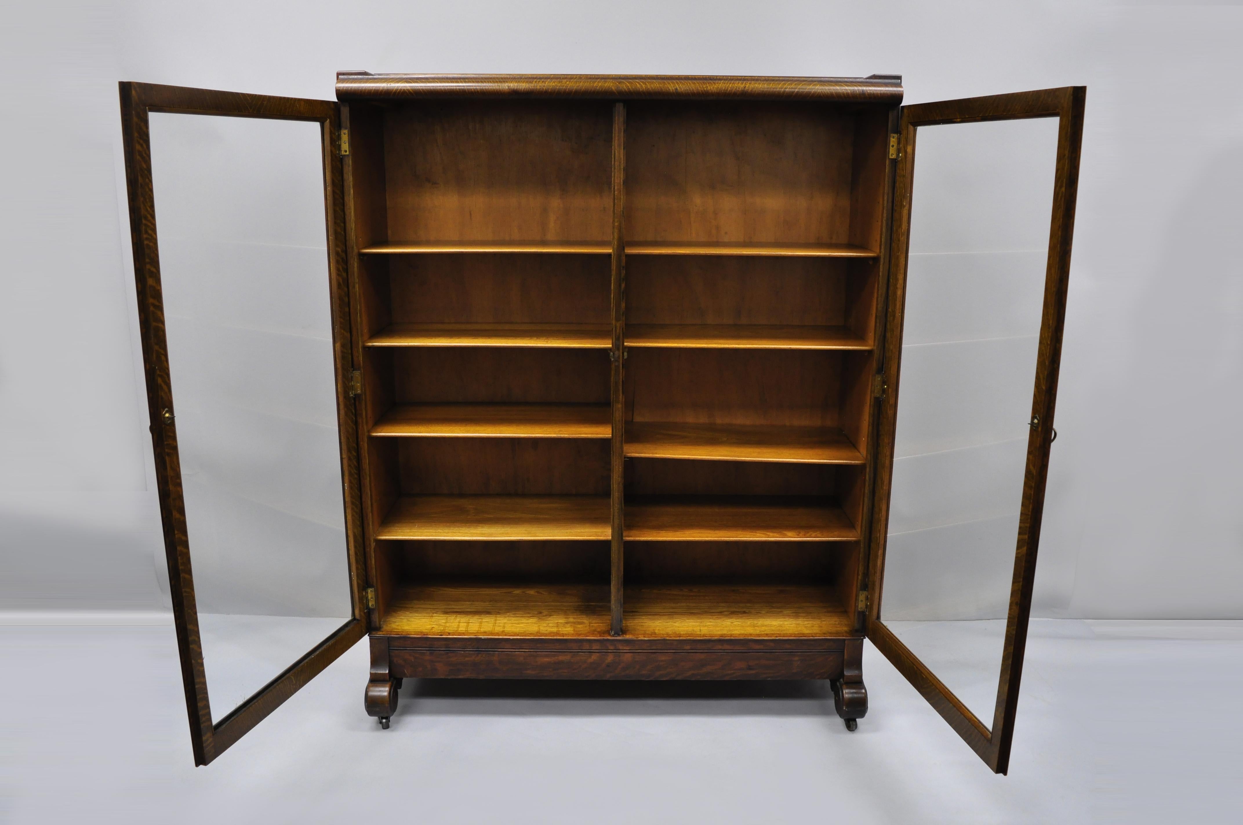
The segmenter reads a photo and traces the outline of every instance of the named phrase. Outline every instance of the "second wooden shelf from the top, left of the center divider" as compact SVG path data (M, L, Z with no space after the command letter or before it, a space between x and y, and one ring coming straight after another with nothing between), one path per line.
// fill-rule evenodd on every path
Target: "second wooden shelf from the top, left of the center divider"
M546 347L609 349L608 324L392 324L368 347Z

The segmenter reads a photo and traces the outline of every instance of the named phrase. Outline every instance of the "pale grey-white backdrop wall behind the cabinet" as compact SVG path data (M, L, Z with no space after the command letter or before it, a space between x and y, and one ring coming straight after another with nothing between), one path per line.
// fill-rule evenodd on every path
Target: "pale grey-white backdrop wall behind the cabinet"
M332 98L337 70L1086 84L1037 611L1243 618L1243 9L32 4L0 22L0 608L162 609L118 80Z

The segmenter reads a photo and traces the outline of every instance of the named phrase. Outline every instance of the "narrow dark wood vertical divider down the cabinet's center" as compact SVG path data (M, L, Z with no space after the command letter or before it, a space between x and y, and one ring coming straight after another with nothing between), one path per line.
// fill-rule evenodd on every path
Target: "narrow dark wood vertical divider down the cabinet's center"
M623 550L625 548L625 405L623 404L623 371L625 369L625 103L613 104L613 348L609 350L613 388L613 450L612 501L613 543L609 549L609 632L622 635Z

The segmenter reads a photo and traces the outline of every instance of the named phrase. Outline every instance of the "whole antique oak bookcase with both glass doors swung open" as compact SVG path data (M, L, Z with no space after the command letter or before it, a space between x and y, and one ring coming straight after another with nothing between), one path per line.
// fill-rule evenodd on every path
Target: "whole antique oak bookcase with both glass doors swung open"
M827 680L850 731L870 639L1004 773L1084 96L122 83L196 763L364 636L384 728L433 677Z

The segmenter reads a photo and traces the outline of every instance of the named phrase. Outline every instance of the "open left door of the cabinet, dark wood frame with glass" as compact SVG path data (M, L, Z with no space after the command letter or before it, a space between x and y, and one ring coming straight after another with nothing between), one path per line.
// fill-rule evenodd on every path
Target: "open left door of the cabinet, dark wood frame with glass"
M201 765L367 632L339 114L145 83L121 84L121 112Z

